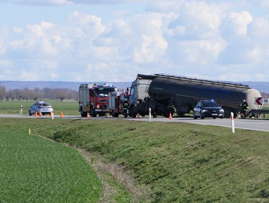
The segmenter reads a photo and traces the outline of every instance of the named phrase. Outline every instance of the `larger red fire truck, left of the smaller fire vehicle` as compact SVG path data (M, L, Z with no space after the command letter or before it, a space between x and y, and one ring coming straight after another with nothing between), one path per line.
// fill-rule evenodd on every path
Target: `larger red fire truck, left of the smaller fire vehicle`
M108 96L111 92L116 91L117 88L112 84L81 84L79 87L79 111L81 117L86 117L88 113L92 117L96 117L97 114L105 116L108 112Z

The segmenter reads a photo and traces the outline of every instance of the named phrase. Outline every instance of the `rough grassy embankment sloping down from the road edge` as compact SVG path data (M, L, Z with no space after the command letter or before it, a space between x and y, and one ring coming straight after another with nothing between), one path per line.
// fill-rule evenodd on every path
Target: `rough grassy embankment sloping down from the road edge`
M34 135L121 166L135 179L133 197L134 188L142 188L152 203L269 202L268 132L110 119L0 119L0 129L7 128L32 128Z

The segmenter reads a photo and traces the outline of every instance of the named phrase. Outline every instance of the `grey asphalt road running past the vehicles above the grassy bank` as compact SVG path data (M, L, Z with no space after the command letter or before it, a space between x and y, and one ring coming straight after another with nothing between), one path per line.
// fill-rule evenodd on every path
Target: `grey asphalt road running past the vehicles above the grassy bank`
M1 114L0 118L32 118L32 119L51 119L48 115L39 117L39 116L29 116L29 115L10 115L10 114ZM124 117L113 118L109 116L108 118L105 117L95 117L95 118L82 118L80 116L67 116L64 115L63 118L56 115L54 116L55 119L125 119ZM145 121L148 122L149 118L127 118L128 120L135 120L135 121ZM168 118L152 118L151 122L160 121L160 122L185 122L185 123L193 123L193 124L200 124L200 125L216 125L216 126L224 126L231 128L231 119L196 119L193 118L172 118L169 120ZM260 131L268 131L269 132L269 120L255 120L255 119L235 119L235 128L242 128L248 130L260 130Z

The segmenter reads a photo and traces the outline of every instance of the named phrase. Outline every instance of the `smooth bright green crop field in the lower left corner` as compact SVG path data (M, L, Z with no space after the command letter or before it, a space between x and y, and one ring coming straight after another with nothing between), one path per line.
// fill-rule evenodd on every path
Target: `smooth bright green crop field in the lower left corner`
M4 123L1 120L1 203L97 203L100 200L103 186L76 150Z

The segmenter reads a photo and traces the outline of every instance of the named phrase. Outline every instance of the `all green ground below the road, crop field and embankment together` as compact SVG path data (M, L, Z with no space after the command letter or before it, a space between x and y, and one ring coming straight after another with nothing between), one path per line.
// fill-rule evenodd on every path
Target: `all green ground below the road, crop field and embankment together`
M79 149L86 160L95 157L89 166L103 184L100 202L269 203L268 132L237 129L232 134L225 127L187 123L40 118L0 119L0 202L99 198L100 181L91 176L91 168L79 170L85 162L60 143Z

